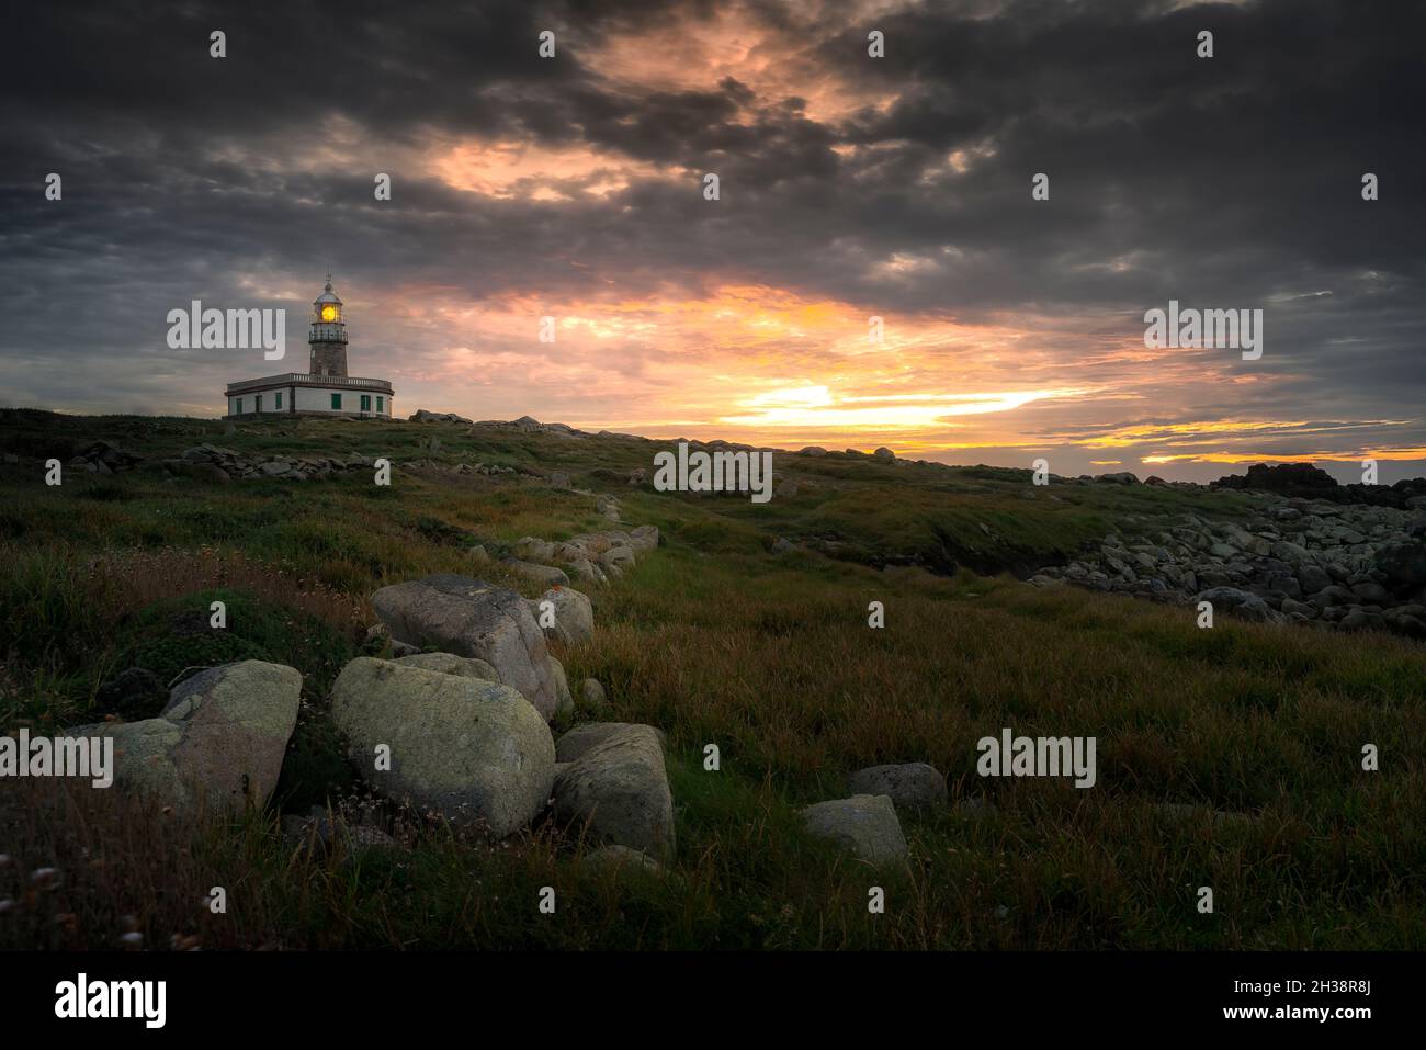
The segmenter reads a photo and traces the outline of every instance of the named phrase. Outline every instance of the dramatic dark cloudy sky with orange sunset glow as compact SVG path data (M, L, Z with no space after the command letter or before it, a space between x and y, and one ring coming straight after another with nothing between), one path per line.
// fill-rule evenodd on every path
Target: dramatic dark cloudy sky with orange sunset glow
M218 415L307 369L331 270L402 415L1422 474L1423 41L1372 0L30 4L0 404ZM195 298L287 308L287 360L170 350ZM1171 298L1261 308L1261 360L1145 350Z

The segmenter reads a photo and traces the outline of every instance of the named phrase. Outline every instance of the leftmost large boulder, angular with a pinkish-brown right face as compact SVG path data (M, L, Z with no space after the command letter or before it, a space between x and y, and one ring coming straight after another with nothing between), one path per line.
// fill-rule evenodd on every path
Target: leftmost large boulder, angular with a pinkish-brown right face
M184 812L262 806L297 726L302 675L241 661L208 668L168 696L158 718L73 730L114 738L114 782Z

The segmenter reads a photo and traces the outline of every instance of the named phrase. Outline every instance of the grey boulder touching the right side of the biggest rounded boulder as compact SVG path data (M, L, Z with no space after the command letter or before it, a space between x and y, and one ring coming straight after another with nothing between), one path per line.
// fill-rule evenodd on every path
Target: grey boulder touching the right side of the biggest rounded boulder
M596 842L672 850L673 796L657 735L625 726L580 752L555 780L555 819L588 829Z

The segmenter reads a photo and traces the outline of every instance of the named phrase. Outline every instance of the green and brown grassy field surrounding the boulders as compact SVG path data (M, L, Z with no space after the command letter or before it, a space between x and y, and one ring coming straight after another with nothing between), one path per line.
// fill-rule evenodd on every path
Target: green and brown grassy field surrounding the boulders
M439 435L431 455L424 442ZM325 719L362 652L378 586L481 574L471 548L609 526L533 474L332 481L68 475L39 459L93 439L150 462L212 441L242 454L491 462L619 496L665 545L592 588L593 641L558 652L609 695L578 719L670 735L669 877L617 882L549 826L503 843L384 810L405 849L284 845L279 812L371 805ZM128 666L161 676L260 656L298 668L304 709L278 797L183 823L118 792L0 782L0 947L1326 949L1426 946L1426 648L1221 619L998 568L1064 558L1162 515L1232 516L1242 496L1135 486L1032 489L1028 474L779 457L791 499L630 488L652 442L445 424L244 424L10 412L0 451L0 726L93 720ZM37 459L39 458L39 459ZM809 486L807 482L811 482ZM806 546L774 555L776 538ZM901 568L920 562L938 569ZM878 568L887 566L887 568ZM958 568L957 568L958 566ZM967 568L970 566L970 568ZM502 581L508 582L508 581ZM529 586L511 583L533 595ZM180 626L208 601L230 632ZM867 605L886 605L886 628ZM211 649L211 651L210 651ZM1098 783L987 780L1002 726L1098 738ZM704 772L719 745L722 770ZM1363 772L1375 743L1380 772ZM874 870L810 839L796 809L866 765L925 760L953 803L903 815L910 862ZM1158 803L1192 803L1172 819ZM1215 819L1214 810L1241 815ZM197 843L197 845L195 845ZM48 887L33 873L54 867ZM225 914L202 900L228 892ZM540 914L539 887L558 910ZM886 889L868 914L868 887ZM1215 910L1199 914L1196 889Z

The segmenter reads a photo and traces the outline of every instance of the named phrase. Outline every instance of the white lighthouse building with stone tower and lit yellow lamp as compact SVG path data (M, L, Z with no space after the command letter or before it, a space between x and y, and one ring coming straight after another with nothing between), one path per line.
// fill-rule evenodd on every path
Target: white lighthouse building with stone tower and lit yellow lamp
M389 419L392 389L386 379L362 379L347 375L347 321L342 301L327 290L312 302L312 327L307 337L312 348L305 372L267 375L261 379L230 382L227 419L258 418L277 414L349 415Z

